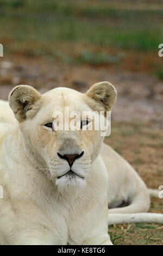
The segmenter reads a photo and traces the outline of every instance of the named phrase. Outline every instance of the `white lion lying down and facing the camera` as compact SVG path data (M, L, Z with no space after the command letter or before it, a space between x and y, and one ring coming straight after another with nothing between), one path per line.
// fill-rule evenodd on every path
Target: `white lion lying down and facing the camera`
M143 213L149 191L135 170L103 144L101 131L83 129L93 119L81 120L79 131L54 129L53 113L65 106L110 111L115 101L114 86L101 82L86 94L17 86L9 95L15 117L0 102L3 245L111 245L110 223L163 223L163 215Z

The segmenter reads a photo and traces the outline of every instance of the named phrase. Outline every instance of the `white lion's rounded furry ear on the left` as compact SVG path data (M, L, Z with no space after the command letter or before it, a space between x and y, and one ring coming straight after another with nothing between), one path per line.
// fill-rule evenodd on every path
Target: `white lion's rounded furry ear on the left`
M34 105L40 98L41 94L32 86L14 87L9 94L9 105L16 119L20 122L26 119L27 112L35 108Z

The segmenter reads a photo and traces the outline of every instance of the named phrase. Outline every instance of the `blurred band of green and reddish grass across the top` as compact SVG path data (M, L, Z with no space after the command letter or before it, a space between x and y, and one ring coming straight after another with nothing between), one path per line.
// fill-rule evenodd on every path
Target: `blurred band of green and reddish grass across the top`
M0 0L0 43L4 56L113 66L162 80L161 7L161 1Z

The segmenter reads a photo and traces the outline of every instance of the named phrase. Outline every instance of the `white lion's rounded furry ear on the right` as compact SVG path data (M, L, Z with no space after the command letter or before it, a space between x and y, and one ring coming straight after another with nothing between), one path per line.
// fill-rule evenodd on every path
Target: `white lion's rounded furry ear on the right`
M117 92L115 87L109 82L95 83L87 91L86 95L99 103L105 111L110 111L116 102Z

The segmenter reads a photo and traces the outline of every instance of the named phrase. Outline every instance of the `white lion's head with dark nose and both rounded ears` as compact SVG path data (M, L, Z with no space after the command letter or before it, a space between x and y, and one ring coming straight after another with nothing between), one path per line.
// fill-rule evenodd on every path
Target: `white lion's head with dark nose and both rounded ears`
M86 94L55 88L41 95L30 86L17 86L9 94L27 156L58 187L84 186L103 142L101 131L84 129L93 127L94 119L82 119L82 111L110 111L115 101L116 90L108 82L94 84ZM57 129L55 113L61 112L66 124L67 107L80 117L80 129Z

